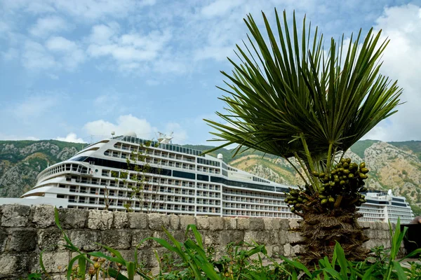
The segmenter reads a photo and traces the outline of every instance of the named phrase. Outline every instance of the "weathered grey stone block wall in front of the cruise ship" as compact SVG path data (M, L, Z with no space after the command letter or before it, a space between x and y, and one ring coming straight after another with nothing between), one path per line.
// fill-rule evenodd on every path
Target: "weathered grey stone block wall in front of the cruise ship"
M185 240L185 229L196 224L206 246L213 246L217 255L223 253L229 242L256 241L267 246L269 255L293 257L299 246L297 232L288 229L298 225L297 220L276 218L221 218L207 216L176 216L162 214L124 213L82 209L60 209L60 223L69 238L83 251L97 251L96 243L111 246L123 258L133 260L135 246L146 237L161 237L167 228L179 241ZM361 223L369 226L371 238L366 246L390 246L386 223ZM13 204L0 207L0 279L18 279L39 267L39 253L43 250L46 270L58 274L65 269L72 253L63 246L62 233L55 225L54 209L48 206L27 207ZM156 267L154 251L167 251L154 241L140 246L139 259L147 267ZM74 256L74 255L73 255Z

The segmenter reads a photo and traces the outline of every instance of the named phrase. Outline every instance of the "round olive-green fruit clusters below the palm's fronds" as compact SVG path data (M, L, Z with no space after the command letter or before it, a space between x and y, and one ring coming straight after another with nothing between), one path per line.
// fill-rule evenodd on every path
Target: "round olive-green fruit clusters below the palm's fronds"
M319 181L319 193L312 194L310 188L290 189L285 202L291 207L291 211L300 211L306 206L310 206L314 201L309 202L312 197L318 200L322 208L333 208L338 197L341 197L341 207L355 205L361 206L366 199L361 193L365 193L367 188L365 182L368 178L366 163L356 164L350 158L342 158L338 165L335 165L330 172L313 172L312 176ZM339 205L337 205L339 206Z

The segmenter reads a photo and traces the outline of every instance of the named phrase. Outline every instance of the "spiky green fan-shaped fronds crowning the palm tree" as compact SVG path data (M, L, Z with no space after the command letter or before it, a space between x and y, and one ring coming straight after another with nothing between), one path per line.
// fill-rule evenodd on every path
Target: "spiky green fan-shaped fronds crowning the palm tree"
M218 139L283 158L296 156L310 171L329 168L335 153L347 151L381 120L392 115L401 89L380 74L380 56L388 41L371 29L349 45L332 38L323 50L319 36L303 20L302 32L286 12L272 30L265 13L265 38L251 15L244 21L248 44L236 45L240 63L227 78L221 99L227 125L206 120ZM342 60L343 59L343 60ZM220 146L221 147L221 146ZM218 148L220 148L218 147ZM216 148L215 148L216 149ZM311 180L311 179L310 179Z

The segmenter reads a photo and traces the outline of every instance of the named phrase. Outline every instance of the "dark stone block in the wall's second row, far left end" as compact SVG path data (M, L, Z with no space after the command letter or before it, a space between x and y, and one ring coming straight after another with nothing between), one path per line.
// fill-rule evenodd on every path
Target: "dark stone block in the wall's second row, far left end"
M36 231L32 229L13 230L6 242L8 252L34 251L36 247Z

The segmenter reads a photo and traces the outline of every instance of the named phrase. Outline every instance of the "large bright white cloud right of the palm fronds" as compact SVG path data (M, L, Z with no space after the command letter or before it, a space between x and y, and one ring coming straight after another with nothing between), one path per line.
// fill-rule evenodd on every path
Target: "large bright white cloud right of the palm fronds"
M382 39L390 42L384 52L382 73L398 80L403 87L399 110L383 121L366 139L382 141L420 140L421 126L416 117L420 111L421 83L419 78L421 61L421 8L412 4L385 8L377 19L376 29L382 29Z

